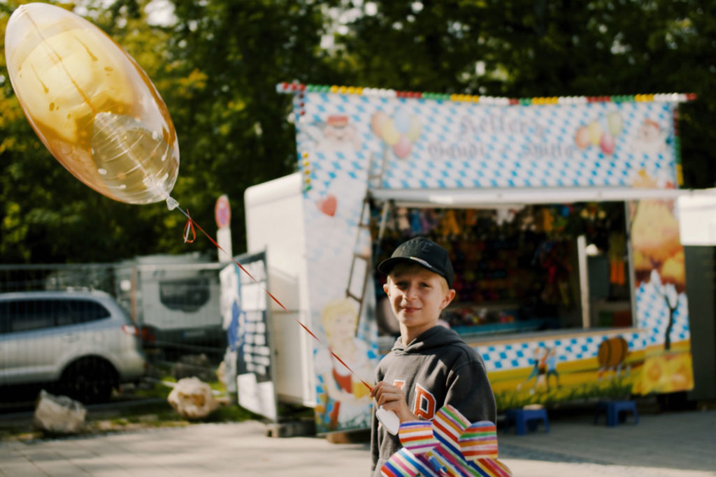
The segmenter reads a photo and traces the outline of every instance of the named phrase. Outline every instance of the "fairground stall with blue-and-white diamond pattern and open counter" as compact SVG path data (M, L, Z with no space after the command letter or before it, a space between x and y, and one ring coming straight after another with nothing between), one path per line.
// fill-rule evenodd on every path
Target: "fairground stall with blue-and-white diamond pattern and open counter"
M248 247L319 338L274 307L279 399L314 407L320 432L369 427L361 381L398 333L374 265L415 235L450 250L443 324L483 356L500 410L693 387L674 209L692 97L278 89L299 172L246 191Z

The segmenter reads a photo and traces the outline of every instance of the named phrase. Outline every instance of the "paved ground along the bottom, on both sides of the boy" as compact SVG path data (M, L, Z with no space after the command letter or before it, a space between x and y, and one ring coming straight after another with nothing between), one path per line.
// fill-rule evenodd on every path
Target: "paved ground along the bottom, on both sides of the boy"
M603 422L603 421L601 421ZM638 425L595 426L591 416L551 419L551 431L498 431L515 476L716 476L716 410L641 415ZM3 476L369 475L366 443L269 438L258 422L0 443Z

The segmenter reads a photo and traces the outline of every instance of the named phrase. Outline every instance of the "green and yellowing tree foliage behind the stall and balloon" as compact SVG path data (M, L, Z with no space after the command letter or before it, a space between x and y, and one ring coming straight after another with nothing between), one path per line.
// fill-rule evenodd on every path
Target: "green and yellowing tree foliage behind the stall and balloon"
M696 0L87 0L76 9L122 45L165 100L181 164L172 196L213 234L232 204L245 250L243 191L295 169L291 97L298 81L503 97L695 92L682 104L687 187L716 182L716 2ZM17 0L0 2L0 46ZM326 44L332 39L332 44ZM0 260L114 261L214 251L185 245L185 217L127 205L74 179L42 146L0 56ZM266 217L266 220L272 220Z

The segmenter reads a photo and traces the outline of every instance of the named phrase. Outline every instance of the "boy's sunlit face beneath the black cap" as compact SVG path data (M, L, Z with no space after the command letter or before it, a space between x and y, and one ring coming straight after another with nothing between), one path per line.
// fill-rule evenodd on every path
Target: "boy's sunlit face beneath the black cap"
M401 329L410 330L413 338L435 326L442 309L455 297L443 277L420 265L397 265L383 290Z

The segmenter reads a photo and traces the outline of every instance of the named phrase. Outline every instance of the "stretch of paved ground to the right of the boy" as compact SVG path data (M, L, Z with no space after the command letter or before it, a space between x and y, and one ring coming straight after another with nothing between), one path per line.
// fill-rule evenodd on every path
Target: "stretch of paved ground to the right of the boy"
M551 420L550 433L498 433L515 476L716 476L716 410L642 414L610 428L591 415Z

